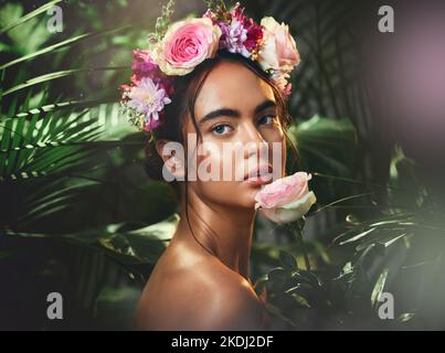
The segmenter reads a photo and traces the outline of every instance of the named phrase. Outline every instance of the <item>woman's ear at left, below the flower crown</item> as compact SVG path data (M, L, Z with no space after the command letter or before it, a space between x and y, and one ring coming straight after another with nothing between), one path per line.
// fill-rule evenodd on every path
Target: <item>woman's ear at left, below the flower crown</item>
M179 142L159 139L155 142L156 150L163 161L162 175L167 181L177 179L183 181L186 176L186 159L183 147ZM166 174L169 173L170 175Z

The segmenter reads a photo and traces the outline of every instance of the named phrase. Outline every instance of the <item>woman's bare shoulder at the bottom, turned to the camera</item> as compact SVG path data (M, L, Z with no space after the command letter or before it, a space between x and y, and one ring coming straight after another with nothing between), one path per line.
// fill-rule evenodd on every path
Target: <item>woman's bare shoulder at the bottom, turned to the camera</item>
M156 299L146 311L160 330L263 329L264 307L251 284L218 259L171 271L152 290Z

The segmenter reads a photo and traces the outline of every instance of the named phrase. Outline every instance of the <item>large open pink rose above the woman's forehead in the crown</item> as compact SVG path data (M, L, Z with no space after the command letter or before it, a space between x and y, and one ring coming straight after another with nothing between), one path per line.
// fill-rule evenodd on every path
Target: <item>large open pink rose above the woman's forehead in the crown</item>
M220 36L220 28L209 18L176 22L153 49L153 61L167 75L187 75L216 54Z

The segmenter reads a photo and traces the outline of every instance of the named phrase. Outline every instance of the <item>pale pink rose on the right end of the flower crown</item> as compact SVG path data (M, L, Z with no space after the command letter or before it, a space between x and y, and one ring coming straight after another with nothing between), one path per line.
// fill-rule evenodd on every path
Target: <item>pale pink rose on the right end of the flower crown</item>
M279 24L272 17L263 18L261 24L264 28L264 42L258 62L263 69L292 72L300 62L300 57L288 25Z

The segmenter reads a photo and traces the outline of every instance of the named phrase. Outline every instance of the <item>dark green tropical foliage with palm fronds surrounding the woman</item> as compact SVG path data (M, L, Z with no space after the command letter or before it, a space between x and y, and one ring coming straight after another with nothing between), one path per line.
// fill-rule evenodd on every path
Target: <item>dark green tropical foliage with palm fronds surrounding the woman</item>
M178 15L204 6L177 2ZM252 276L276 325L443 329L443 197L373 124L350 28L357 3L244 4L296 34L289 135L300 158L288 168L311 172L318 197L305 244L256 224ZM47 28L54 6L60 33ZM130 328L178 222L173 190L146 176L144 139L118 113L131 49L159 12L138 0L1 2L0 328ZM52 291L67 303L60 322L44 315ZM379 317L382 292L394 320Z

